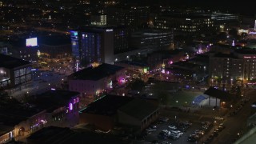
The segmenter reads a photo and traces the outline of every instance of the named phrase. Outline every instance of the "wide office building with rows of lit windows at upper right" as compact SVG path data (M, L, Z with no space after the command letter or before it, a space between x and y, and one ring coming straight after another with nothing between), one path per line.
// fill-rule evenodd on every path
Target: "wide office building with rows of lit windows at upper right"
M154 16L154 28L174 29L182 34L209 33L224 29L224 26L231 22L238 22L238 15L235 14L160 14Z

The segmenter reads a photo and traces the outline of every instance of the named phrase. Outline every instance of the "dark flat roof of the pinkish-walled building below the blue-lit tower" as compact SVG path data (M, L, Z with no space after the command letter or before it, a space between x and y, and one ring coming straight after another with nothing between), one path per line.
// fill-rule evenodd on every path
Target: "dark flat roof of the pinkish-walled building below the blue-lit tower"
M122 66L115 66L103 63L102 65L94 68L89 67L83 70L79 70L74 74L71 74L70 77L74 79L97 81L99 79L115 74L116 72L118 72L118 70L122 69L124 69Z

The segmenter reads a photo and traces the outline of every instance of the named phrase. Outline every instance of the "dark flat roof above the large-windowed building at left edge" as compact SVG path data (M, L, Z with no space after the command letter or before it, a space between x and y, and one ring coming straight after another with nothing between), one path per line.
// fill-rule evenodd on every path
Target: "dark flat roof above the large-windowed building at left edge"
M30 62L24 61L19 58L14 58L8 55L0 54L0 67L5 67L7 69L14 69L19 66L29 65Z

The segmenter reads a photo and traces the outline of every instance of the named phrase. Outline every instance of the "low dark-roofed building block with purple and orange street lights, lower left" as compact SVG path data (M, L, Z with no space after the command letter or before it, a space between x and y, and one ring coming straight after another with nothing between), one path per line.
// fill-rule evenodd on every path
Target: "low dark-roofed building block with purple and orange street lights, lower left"
M0 102L0 143L24 140L46 126L73 127L79 122L77 92L50 90L20 103Z

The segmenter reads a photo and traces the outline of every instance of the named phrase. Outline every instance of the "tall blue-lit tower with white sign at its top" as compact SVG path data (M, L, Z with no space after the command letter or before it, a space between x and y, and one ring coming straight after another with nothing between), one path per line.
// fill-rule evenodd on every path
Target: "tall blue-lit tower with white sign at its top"
M86 26L71 31L72 54L86 64L111 64L114 51L128 50L128 34L128 30L120 26Z

